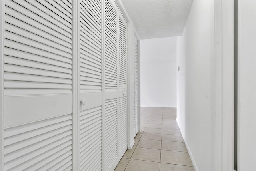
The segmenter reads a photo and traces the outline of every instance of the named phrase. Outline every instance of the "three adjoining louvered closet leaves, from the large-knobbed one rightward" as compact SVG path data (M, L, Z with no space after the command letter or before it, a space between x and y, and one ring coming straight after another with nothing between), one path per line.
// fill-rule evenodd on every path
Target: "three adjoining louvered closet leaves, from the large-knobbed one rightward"
M114 1L80 0L80 170L114 170L127 149L126 40Z

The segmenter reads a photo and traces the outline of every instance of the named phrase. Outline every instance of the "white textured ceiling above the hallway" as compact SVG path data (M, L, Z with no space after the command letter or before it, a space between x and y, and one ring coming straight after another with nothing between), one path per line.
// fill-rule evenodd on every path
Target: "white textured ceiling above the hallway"
M140 39L181 36L193 0L122 0Z

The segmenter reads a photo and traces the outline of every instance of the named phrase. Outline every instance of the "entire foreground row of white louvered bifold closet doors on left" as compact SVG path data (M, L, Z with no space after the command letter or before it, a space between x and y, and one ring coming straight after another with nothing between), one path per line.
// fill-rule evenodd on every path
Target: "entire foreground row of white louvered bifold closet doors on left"
M127 23L116 3L4 2L4 170L114 170L127 149Z

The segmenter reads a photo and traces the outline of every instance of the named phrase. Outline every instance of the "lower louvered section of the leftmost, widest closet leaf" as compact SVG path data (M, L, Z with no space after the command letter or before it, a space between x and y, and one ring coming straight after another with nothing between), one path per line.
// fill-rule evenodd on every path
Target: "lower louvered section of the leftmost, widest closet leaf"
M4 130L4 170L72 170L72 115Z

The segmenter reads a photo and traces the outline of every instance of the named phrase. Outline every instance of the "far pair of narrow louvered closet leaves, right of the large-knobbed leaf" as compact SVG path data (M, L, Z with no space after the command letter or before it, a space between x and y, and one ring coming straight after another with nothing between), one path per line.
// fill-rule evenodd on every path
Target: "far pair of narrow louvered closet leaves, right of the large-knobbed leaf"
M104 170L114 170L127 149L127 23L114 0L104 6Z

